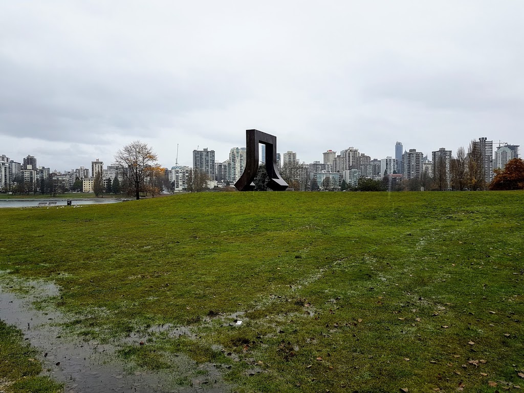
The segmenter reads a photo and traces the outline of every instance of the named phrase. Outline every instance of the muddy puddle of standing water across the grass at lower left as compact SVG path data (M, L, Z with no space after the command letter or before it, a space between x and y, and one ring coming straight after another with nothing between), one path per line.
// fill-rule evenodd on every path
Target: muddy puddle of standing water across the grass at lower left
M65 322L57 311L38 311L31 303L38 297L57 296L59 289L52 284L32 282L31 296L15 294L0 282L0 319L15 325L24 333L31 345L42 352L44 373L64 383L67 393L119 392L209 392L222 393L229 389L221 382L221 372L213 365L196 365L189 358L179 355L180 375L167 372L130 370L130 367L116 358L117 346L102 345L95 341L62 337L59 324ZM18 287L18 285L17 285ZM36 289L36 290L35 290ZM173 335L187 334L182 329L167 325L152 328L150 333L172 330ZM129 337L129 341L139 337ZM122 342L125 344L127 340ZM178 367L179 366L179 367ZM195 377L198 375L198 377ZM177 385L177 380L187 380L187 385Z

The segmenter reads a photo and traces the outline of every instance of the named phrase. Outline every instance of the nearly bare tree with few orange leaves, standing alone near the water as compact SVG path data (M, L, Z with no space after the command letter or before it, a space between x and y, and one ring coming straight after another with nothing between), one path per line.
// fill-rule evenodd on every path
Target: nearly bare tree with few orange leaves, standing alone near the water
M145 179L160 169L156 163L157 159L158 156L152 148L139 140L134 140L116 152L115 163L122 168L128 190L136 199L140 199Z

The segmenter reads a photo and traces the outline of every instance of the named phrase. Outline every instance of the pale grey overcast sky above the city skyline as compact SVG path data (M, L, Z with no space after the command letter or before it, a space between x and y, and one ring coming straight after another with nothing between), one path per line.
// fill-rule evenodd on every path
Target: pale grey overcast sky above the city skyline
M170 168L251 128L306 162L522 146L523 48L521 0L0 0L0 155L63 171L139 139Z

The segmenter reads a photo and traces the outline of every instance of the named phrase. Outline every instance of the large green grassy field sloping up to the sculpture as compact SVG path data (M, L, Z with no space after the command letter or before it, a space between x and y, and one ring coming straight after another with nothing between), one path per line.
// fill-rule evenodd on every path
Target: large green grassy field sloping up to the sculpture
M75 334L187 327L120 355L151 369L177 352L220 363L236 391L513 390L524 387L523 202L237 192L5 209L0 270L61 286Z

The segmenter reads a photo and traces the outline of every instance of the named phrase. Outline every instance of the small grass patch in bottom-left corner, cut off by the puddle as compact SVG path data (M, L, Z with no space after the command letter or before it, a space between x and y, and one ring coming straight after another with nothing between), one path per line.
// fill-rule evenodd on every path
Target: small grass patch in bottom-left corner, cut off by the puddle
M0 391L6 393L54 393L62 385L39 376L41 363L37 351L24 343L22 333L0 321Z

